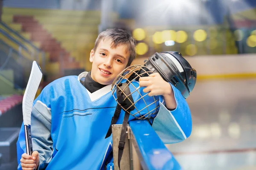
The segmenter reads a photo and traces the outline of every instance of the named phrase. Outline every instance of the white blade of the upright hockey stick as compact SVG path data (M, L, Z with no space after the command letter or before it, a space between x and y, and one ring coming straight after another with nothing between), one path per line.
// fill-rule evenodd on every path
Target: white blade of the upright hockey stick
M35 94L42 79L42 72L37 62L33 61L29 81L22 101L22 112L24 125L31 125L31 111Z

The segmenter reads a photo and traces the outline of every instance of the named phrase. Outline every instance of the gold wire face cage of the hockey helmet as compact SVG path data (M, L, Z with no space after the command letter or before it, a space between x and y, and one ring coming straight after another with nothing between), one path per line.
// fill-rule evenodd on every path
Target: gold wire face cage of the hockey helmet
M154 117L159 110L159 96L148 96L148 93L143 92L144 87L140 87L138 82L140 77L146 77L152 73L153 71L144 65L131 65L125 68L112 83L111 91L114 99L124 111L136 119ZM122 88L120 85L123 85ZM129 91L127 92L127 90ZM121 93L123 101L128 103L128 107L124 107L120 103L116 96L117 93ZM134 109L131 111L131 108Z

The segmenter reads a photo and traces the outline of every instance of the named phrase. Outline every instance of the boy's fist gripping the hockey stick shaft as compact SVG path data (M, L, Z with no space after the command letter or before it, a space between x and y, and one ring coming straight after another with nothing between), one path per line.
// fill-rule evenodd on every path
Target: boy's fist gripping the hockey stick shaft
M32 156L23 153L20 159L22 170L33 170L37 169L39 164L38 151L33 151Z

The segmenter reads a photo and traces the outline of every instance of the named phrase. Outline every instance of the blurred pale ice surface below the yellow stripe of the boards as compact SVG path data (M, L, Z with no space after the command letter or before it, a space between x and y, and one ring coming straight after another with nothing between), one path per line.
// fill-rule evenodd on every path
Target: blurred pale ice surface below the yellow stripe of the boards
M256 79L199 80L192 134L169 144L184 170L256 170Z

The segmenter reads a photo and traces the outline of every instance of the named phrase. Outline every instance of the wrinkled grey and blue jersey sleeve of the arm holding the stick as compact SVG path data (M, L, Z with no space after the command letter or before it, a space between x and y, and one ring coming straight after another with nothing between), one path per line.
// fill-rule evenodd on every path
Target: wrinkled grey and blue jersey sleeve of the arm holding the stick
M45 97L46 91L35 99L31 113L31 134L32 134L32 147L39 153L39 168L45 169L49 161L52 159L52 138L51 138L51 108L49 104L49 95ZM19 138L17 141L17 161L18 170L21 170L20 159L21 155L26 153L26 143L24 134L24 125L22 123Z

